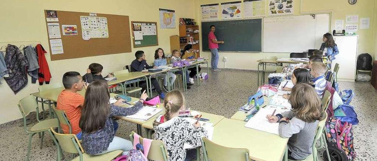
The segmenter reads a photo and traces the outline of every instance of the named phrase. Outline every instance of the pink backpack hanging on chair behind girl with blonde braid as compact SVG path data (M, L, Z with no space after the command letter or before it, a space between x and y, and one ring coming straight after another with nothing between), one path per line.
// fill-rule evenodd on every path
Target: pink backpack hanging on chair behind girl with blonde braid
M133 149L128 153L128 161L148 161L147 156L152 140L144 138L141 145L139 138L140 135L133 134Z

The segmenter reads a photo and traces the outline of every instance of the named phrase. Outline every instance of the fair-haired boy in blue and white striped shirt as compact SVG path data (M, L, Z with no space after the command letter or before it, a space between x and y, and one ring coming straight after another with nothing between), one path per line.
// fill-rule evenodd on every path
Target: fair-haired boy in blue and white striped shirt
M326 72L326 65L322 62L314 62L311 64L310 74L314 76L313 87L316 90L319 99L322 99L323 91L326 88L326 79L323 76Z

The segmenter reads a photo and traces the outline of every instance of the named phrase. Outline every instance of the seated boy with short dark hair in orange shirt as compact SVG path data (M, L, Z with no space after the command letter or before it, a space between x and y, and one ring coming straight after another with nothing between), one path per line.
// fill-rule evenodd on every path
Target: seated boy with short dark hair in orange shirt
M76 71L68 71L63 75L63 85L65 90L58 96L57 109L64 110L72 127L72 134L81 139L81 129L79 122L81 118L81 108L84 105L84 97L77 93L86 88L83 77ZM69 134L69 127L60 124L63 132Z

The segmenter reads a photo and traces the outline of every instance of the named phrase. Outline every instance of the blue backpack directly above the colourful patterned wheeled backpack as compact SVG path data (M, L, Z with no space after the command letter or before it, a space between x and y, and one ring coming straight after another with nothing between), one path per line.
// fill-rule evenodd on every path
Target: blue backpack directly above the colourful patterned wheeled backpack
M342 124L348 122L352 125L357 125L359 123L354 107L351 105L344 104L338 106L338 108L334 110L334 116L338 118Z

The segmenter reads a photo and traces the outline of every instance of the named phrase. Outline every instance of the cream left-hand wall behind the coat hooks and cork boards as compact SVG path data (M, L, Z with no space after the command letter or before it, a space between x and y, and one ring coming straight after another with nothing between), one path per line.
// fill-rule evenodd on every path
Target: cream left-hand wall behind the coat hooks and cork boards
M2 14L0 16L2 24L0 25L0 42L40 41L46 51L49 51L49 45L44 9L128 15L130 21L156 21L158 25L158 8L175 10L176 29L160 29L158 27L158 47L162 47L166 53L170 53L169 36L178 35L179 18L195 18L194 3L188 3L187 0L2 0L1 4L4 7L0 11ZM66 71L78 71L85 74L86 68L92 62L102 64L104 74L110 71L123 70L124 65L130 64L135 59L134 53L137 50L144 50L148 62L151 63L156 48L157 46L132 48L131 53L58 61L51 61L50 55L47 53L46 59L52 74L51 84L61 84L61 77ZM2 124L22 117L17 107L18 101L30 93L37 92L39 85L38 83L31 84L29 76L28 85L14 95L5 80L1 78L0 81L3 83L0 85L0 102L2 104L0 105L0 111L2 111L0 112L0 124Z

